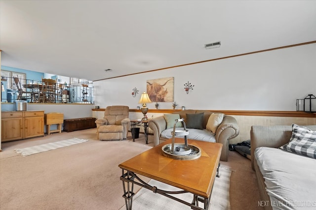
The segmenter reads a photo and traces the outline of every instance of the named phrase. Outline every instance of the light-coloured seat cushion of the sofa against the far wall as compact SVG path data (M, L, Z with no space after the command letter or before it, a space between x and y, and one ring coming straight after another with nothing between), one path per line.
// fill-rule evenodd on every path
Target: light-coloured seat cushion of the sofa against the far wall
M183 128L176 128L176 130L183 130ZM188 139L194 139L194 140L199 140L203 142L216 142L215 140L215 134L212 133L209 130L203 129L193 129L193 128L188 128L189 135L187 136ZM171 132L173 131L173 128L169 128L166 130L163 130L160 134L160 137L165 138L165 139L170 139L172 138Z

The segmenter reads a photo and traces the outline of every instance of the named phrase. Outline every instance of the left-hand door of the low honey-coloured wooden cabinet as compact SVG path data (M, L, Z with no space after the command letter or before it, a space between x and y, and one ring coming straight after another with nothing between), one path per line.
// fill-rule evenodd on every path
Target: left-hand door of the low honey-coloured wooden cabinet
M23 139L23 118L1 119L1 142Z

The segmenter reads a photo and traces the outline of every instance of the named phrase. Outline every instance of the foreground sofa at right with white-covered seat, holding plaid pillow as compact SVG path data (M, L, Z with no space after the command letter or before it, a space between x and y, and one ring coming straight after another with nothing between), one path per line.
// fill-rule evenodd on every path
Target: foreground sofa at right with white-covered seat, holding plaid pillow
M316 208L316 159L278 149L291 136L291 125L251 127L251 166L265 210Z

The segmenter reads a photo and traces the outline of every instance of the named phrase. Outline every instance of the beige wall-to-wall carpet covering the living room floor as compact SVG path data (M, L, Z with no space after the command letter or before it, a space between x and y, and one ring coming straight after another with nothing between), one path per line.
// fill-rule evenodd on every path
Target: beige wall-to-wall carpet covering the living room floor
M26 157L14 151L71 138L89 141ZM118 164L150 149L152 142L149 136L149 145L146 145L143 134L133 142L130 133L124 141L98 141L96 129L88 129L2 143L0 209L118 210L124 205ZM221 162L221 167L233 171L231 210L261 210L250 160L237 152L229 152L229 162Z

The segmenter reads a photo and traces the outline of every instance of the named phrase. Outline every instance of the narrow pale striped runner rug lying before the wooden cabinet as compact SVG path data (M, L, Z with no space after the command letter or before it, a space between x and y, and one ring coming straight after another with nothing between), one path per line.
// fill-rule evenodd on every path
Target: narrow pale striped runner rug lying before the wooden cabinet
M28 156L28 155L40 153L43 151L55 150L55 149L67 147L70 145L76 145L76 144L83 143L86 141L88 141L88 140L87 139L73 138L73 139L67 139L67 140L63 140L63 141L59 141L59 142L51 142L51 143L47 143L47 144L23 148L23 149L15 149L15 151L17 153L21 154L22 156Z

